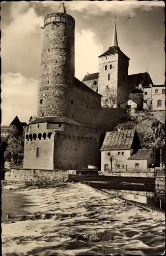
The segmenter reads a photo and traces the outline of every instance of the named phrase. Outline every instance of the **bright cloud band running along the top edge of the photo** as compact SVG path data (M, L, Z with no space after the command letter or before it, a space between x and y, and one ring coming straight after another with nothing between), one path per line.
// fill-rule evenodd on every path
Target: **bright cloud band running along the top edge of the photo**
M55 12L59 10L61 3L54 1L43 1L44 7L51 7ZM67 10L86 12L87 15L102 16L105 12L112 12L117 15L134 16L137 9L150 11L154 7L164 7L164 1L70 1L65 2Z

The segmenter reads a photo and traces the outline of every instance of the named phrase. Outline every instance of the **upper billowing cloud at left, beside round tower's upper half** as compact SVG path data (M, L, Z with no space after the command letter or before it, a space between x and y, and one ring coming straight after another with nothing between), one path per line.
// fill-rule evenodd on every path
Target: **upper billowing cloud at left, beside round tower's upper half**
M11 11L14 20L2 30L2 73L19 72L23 76L32 77L39 75L43 39L40 24L43 23L43 17L37 16L33 8L23 13L19 4L15 3Z

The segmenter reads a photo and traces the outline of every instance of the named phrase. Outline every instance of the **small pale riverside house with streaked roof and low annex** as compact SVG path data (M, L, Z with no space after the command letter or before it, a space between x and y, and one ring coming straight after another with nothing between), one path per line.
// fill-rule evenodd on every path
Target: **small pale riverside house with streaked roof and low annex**
M101 147L101 172L147 169L156 163L151 150L142 150L136 130L107 132ZM143 162L142 162L143 161Z

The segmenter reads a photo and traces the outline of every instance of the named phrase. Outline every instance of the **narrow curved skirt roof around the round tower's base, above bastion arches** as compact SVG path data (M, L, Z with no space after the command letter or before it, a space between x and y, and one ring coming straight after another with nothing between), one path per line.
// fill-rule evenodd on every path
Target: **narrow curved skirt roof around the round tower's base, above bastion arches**
M101 125L96 125L94 123L87 123L87 122L82 122L82 121L77 121L70 119L68 117L54 117L54 116L46 116L46 117L39 117L36 120L32 121L30 124L35 124L35 123L69 123L69 124L74 124L77 126L83 126L83 127L88 127L91 129L100 129L103 130L103 127Z

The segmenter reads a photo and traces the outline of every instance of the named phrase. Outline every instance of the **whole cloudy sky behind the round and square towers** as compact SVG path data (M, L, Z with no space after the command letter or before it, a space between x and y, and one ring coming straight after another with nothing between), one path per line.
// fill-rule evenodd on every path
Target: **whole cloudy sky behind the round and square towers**
M120 49L130 58L129 75L149 72L164 84L164 2L63 2L75 18L75 76L98 72L98 56L112 45L114 21ZM29 122L37 112L44 17L62 2L1 2L2 125L18 115Z

